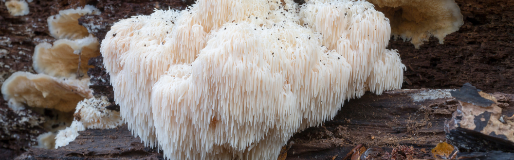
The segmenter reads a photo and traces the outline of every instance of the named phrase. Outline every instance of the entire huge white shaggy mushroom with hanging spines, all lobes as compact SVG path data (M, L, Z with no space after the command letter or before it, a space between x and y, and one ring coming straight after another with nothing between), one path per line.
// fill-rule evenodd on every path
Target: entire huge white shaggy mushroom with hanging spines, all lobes
M345 99L401 86L405 66L386 49L382 13L360 1L311 3L355 15L313 28L299 24L317 13L300 16L290 0L198 1L115 23L100 51L121 116L167 158L276 159Z

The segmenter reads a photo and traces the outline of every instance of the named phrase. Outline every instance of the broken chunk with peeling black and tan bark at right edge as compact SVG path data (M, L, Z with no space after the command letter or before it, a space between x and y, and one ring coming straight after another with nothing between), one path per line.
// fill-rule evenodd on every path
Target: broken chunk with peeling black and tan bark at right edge
M445 131L449 144L461 152L514 152L514 116L502 115L502 102L514 98L511 95L497 98L485 94L469 83L451 92L458 102L457 111L447 121ZM499 94L496 94L499 95Z

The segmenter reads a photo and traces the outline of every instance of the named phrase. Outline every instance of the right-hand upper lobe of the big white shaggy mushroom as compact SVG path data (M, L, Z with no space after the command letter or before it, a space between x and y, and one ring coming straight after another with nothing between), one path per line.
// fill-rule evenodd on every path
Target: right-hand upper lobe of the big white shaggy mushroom
M364 1L309 1L300 16L319 32L320 44L347 59L352 66L347 98L365 91L380 94L401 87L403 70L396 50L386 49L391 36L388 19Z

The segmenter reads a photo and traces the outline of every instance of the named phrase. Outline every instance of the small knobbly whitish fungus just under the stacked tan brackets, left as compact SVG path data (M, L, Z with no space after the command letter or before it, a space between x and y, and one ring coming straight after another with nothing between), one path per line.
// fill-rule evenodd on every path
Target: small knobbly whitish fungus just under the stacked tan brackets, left
M77 104L75 120L87 129L111 129L122 124L120 112L105 109L111 103L106 96L89 98Z

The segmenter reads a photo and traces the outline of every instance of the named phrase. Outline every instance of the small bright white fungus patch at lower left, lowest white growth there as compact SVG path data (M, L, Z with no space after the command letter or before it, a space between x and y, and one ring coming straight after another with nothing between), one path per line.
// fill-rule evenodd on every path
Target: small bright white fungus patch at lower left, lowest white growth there
M74 141L79 136L79 131L84 131L86 128L82 125L82 122L73 121L71 126L66 129L60 130L56 136L55 149L68 145L71 141Z

